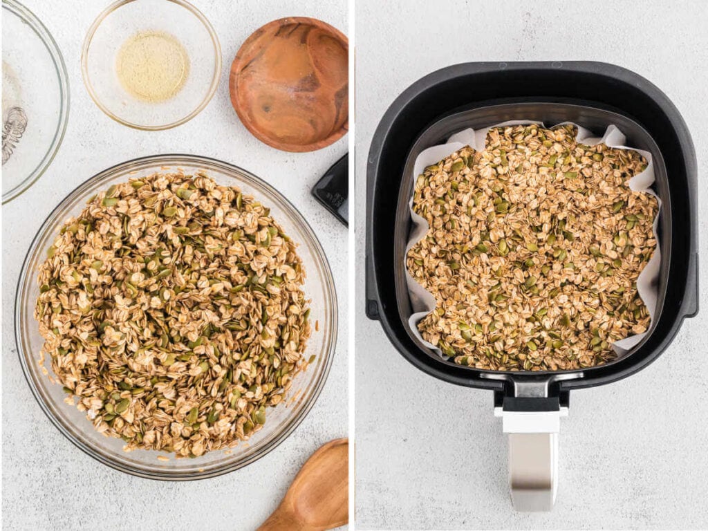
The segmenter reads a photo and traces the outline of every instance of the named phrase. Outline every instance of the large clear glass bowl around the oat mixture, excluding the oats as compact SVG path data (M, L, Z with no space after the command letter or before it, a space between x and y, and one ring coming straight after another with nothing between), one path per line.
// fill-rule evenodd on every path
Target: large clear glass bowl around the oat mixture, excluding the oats
M75 406L66 404L62 385L50 381L53 372L50 360L40 365L40 350L44 339L33 312L39 295L37 270L47 256L64 220L83 210L92 195L106 190L111 184L125 182L132 176L147 176L166 169L183 169L185 173L204 170L222 185L235 185L270 207L273 218L285 233L298 244L307 279L304 292L312 299L310 319L313 326L304 357L315 355L307 370L293 379L290 392L278 406L266 410L263 428L248 441L230 450L215 450L195 459L176 459L173 454L154 450L122 450L124 442L96 432ZM183 481L218 476L244 467L273 450L312 409L329 374L337 335L337 305L329 263L314 232L302 215L273 187L251 173L221 161L190 155L157 155L127 161L113 166L76 188L49 215L35 236L23 264L15 301L15 335L20 362L30 389L50 421L74 445L109 467L128 474L152 479ZM158 456L169 460L158 459Z

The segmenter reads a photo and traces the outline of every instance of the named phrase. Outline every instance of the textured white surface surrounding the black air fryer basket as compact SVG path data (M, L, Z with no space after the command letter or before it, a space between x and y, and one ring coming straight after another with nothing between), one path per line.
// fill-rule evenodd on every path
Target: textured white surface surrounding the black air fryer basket
M593 59L655 83L685 118L708 202L708 3L356 0L357 245L366 157L388 105L413 81L471 61ZM486 38L484 38L487 36ZM701 276L708 215L700 212ZM364 253L357 253L363 271ZM429 377L364 315L357 278L357 529L708 527L708 297L650 367L571 394L550 514L510 506L506 441L491 392Z

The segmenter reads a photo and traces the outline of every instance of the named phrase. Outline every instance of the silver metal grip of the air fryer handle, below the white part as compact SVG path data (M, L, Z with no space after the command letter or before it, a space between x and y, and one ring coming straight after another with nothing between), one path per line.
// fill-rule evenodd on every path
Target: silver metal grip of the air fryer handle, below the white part
M509 433L508 444L514 508L552 510L558 491L558 433Z

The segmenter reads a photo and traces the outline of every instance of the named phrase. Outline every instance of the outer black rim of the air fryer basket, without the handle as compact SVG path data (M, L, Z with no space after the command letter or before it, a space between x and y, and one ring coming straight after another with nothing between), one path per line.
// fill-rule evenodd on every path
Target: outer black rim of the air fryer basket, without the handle
M506 71L506 72L504 72ZM655 112L661 113L661 119L666 122L666 125L670 125L670 130L666 132L666 135L670 137L670 141L677 144L680 147L680 153L672 154L672 164L670 165L669 171L673 172L677 169L680 173L683 173L683 178L685 180L685 186L682 189L683 194L680 205L685 210L685 219L683 230L688 234L687 241L683 241L683 246L687 247L685 249L685 254L682 257L685 263L685 270L682 270L682 285L679 286L680 293L678 294L678 309L675 318L670 323L664 331L663 336L657 341L654 341L653 351L649 355L644 355L642 358L635 356L627 357L625 359L632 359L631 363L616 364L610 367L601 366L597 367L598 370L595 371L592 377L585 377L583 379L576 379L570 381L560 382L558 389L571 389L579 387L591 387L594 385L600 385L605 383L613 382L617 379L627 377L632 373L641 370L646 365L649 365L651 361L656 359L664 349L668 346L670 341L673 340L675 333L677 333L680 328L680 324L683 319L687 316L693 316L697 313L697 221L696 221L696 160L695 160L695 150L693 148L692 140L690 134L687 131L687 127L683 118L681 118L678 110L676 110L673 103L671 103L666 95L664 95L656 86L651 84L646 79L641 76L630 72L627 69L621 67L616 67L612 64L598 63L598 62L519 62L519 63L465 63L457 64L452 67L446 67L440 69L437 72L428 74L428 76L416 81L413 85L406 89L404 93L401 93L399 98L389 107L387 112L384 114L375 135L372 139L372 144L370 148L370 154L368 159L367 167L367 239L366 239L366 292L367 292L367 315L371 319L379 319L382 321L382 326L385 333L389 337L404 358L413 363L416 367L427 372L430 375L444 379L447 382L452 382L455 384L467 386L467 387L479 387L486 389L496 389L503 390L507 387L506 382L499 380L490 380L485 377L471 377L469 372L465 370L464 367L441 367L440 360L426 360L427 355L422 357L421 353L415 353L411 349L410 344L405 344L405 338L401 340L399 336L396 335L395 326L396 323L392 322L389 318L389 313L396 314L397 310L392 310L391 307L394 306L395 302L389 299L382 298L381 291L379 288L379 280L377 275L380 270L384 269L387 264L385 260L379 260L375 253L375 241L374 241L374 229L375 229L375 200L377 193L377 173L379 170L379 164L382 164L384 158L384 152L386 150L390 151L390 147L387 145L387 139L389 133L394 129L394 124L396 120L401 119L401 115L406 113L408 110L409 114L412 112L411 103L416 102L416 98L421 98L421 96L426 96L426 92L438 91L441 87L444 87L445 83L448 81L453 81L458 84L457 89L459 90L459 80L463 78L474 78L476 83L480 81L489 81L484 78L487 75L496 76L506 76L506 74L511 72L516 72L518 75L524 76L549 76L553 74L553 71L564 71L564 75L572 76L573 79L580 79L578 76L583 76L583 80L588 81L588 79L597 81L597 84L605 84L603 89L607 89L607 86L612 87L614 90L616 87L623 89L625 92L629 91L631 93L636 93L639 97L638 100L649 101L653 103L653 109ZM501 72L501 74L500 74ZM602 81L602 83L600 83ZM487 83L487 87L493 86ZM485 87L486 88L486 87ZM496 86L493 86L496 89ZM567 89L567 88L566 88ZM578 91L578 87L573 87L573 90ZM588 89L589 90L589 89ZM572 92L572 91L568 91ZM429 94L427 95L429 96ZM463 104L472 105L475 103L473 97L468 97L469 94L465 93L467 101L458 101L457 105L446 102L450 104L450 108L446 109L447 113L452 112L455 108L462 106ZM507 95L508 96L508 95ZM549 97L556 101L559 99L569 98L577 100L578 98L573 98L569 93L549 93L549 94L535 94L534 99L539 99L542 97ZM437 96L436 96L437 97ZM422 99L422 98L421 98ZM581 98L582 99L582 98ZM610 98L605 98L610 99ZM622 113L620 108L622 105L613 105L612 102L602 101L601 98L593 98L593 102L596 103L601 108L610 108ZM424 114L424 113L423 113ZM423 129L423 126L428 122L432 121L434 118L439 118L440 115L444 115L445 112L438 113L437 116L429 116L424 120L416 124L417 130ZM632 113L623 113L628 115L630 118L639 122L641 125L642 120L637 118ZM651 120L651 116L649 117ZM646 127L650 129L649 127ZM409 144L412 145L414 139L411 139ZM404 159L404 154L397 154L400 159ZM402 161L401 163L402 164ZM399 166L400 166L399 164ZM675 176L676 174L673 173ZM681 184L683 185L683 183ZM673 194L672 194L673 195ZM384 230L386 228L384 227ZM384 263L380 263L384 262ZM678 282L678 280L677 280ZM395 321L395 319L394 319ZM557 373L562 374L562 373ZM557 379L556 374L552 375L534 375L534 373L510 373L510 377L518 380L525 381L541 381L541 382L554 382Z

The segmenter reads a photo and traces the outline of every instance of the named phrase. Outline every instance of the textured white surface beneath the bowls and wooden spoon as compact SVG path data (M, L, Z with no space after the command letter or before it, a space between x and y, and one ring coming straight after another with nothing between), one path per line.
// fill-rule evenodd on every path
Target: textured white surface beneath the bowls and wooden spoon
M24 0L23 0L24 1ZM347 30L346 1L195 0L221 40L223 69L211 103L190 122L164 132L132 130L105 116L81 81L81 43L108 1L26 0L47 25L69 71L69 127L40 181L3 212L3 520L8 530L253 530L275 509L307 457L347 435L347 231L309 193L347 151L348 138L319 152L279 152L253 138L232 109L228 74L241 42L283 16L314 16ZM22 375L13 304L30 241L59 200L108 166L137 156L192 153L242 166L275 185L312 225L329 258L339 302L338 348L329 380L290 438L248 467L189 483L127 476L99 464L50 424Z

